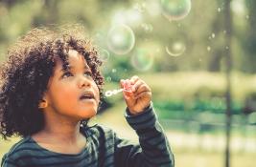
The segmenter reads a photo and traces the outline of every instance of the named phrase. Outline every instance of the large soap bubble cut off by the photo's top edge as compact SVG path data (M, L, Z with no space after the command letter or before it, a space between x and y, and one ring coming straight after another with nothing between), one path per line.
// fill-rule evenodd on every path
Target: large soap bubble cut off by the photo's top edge
M191 10L191 0L161 0L161 8L169 20L180 20Z

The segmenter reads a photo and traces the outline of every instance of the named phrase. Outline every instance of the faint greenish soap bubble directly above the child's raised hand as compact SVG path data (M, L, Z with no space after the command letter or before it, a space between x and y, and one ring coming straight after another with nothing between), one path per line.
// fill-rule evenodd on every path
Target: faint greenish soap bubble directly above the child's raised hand
M151 69L153 54L147 49L138 49L131 56L131 65L138 71L145 72Z

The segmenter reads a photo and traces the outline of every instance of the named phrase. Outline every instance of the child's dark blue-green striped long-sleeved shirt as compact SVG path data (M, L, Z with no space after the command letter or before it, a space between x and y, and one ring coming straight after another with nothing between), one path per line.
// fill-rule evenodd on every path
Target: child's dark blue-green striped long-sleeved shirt
M3 157L1 167L175 166L173 153L152 105L140 115L128 115L127 110L126 118L139 136L139 144L119 138L100 125L81 128L87 144L77 155L49 151L27 136L12 146Z

